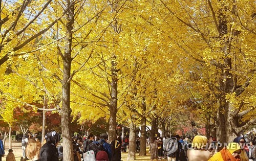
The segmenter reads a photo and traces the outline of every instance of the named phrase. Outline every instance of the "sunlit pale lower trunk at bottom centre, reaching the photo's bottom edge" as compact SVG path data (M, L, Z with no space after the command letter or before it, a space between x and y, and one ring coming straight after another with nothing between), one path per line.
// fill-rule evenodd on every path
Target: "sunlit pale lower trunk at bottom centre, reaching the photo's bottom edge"
M130 123L130 133L129 133L129 151L127 160L135 160L136 155L136 125L131 121Z

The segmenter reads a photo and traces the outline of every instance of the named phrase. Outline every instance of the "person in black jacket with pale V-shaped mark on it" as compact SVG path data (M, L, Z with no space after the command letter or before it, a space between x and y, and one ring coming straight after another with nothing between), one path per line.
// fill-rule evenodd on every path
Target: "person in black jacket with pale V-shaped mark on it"
M111 152L112 152L112 157L111 161L120 161L121 160L121 137L117 136L116 140L113 140L110 145L111 145Z

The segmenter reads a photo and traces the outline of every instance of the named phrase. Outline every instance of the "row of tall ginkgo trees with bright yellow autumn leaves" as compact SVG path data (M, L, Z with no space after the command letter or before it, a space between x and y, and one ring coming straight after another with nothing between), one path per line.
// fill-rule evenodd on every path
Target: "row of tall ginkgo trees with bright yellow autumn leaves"
M2 119L58 112L67 160L76 117L106 118L110 141L130 126L131 160L137 126L145 155L146 124L153 137L185 116L221 142L255 124L251 0L0 2Z

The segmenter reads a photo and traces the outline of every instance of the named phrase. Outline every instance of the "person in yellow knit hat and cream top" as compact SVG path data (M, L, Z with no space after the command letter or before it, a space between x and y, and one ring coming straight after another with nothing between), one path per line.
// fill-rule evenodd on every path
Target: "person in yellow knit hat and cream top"
M189 161L206 161L215 151L209 152L205 149L207 137L197 135L192 141L192 148L187 150L187 158Z

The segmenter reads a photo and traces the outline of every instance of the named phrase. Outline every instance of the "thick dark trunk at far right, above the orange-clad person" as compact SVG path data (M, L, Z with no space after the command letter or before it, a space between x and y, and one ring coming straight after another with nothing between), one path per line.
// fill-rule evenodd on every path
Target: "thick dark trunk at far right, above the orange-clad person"
M227 17L225 15L225 8L221 8L219 10L219 34L221 40L223 41L221 52L223 52L224 64L222 67L221 80L220 80L220 90L222 91L219 101L220 101L220 109L218 111L218 123L217 127L219 127L218 135L221 143L230 143L233 141L234 133L232 132L232 127L229 122L231 117L231 103L226 99L227 94L232 93L233 89L233 78L230 70L231 66L231 58L228 57L230 42L228 41L227 33Z

